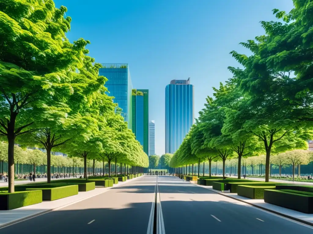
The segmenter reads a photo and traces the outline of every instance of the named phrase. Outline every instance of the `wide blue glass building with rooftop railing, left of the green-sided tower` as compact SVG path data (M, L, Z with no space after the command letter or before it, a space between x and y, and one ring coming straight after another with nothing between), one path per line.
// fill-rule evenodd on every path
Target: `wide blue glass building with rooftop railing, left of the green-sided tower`
M128 64L121 63L103 63L99 69L99 75L105 76L108 81L105 87L108 89L108 95L114 97L114 102L122 109L121 115L128 122L128 128L132 126L132 105L131 105L131 74Z

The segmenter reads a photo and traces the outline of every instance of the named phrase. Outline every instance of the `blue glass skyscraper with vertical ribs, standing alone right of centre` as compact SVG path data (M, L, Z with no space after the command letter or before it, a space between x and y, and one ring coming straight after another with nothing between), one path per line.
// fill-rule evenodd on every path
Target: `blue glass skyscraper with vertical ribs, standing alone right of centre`
M187 80L171 80L165 88L165 153L173 154L194 121L194 86Z

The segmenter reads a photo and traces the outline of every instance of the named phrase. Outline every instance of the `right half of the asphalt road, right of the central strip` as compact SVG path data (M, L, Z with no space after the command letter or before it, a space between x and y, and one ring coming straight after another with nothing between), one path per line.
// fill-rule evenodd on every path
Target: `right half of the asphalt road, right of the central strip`
M174 177L159 177L166 233L313 233L313 227L264 212Z

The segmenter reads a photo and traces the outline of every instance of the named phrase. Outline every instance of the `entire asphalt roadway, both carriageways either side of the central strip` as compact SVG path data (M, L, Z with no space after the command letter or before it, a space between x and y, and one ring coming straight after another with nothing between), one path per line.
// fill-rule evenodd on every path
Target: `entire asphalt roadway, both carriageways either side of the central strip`
M146 234L156 176L143 176L106 193L0 229L1 234ZM167 234L313 233L312 227L264 212L245 203L171 176L159 176Z

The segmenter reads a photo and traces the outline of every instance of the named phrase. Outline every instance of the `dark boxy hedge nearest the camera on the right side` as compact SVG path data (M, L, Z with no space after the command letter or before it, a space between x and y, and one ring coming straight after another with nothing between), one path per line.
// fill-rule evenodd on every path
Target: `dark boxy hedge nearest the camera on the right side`
M313 214L313 194L305 195L266 189L264 190L264 202L307 214Z

